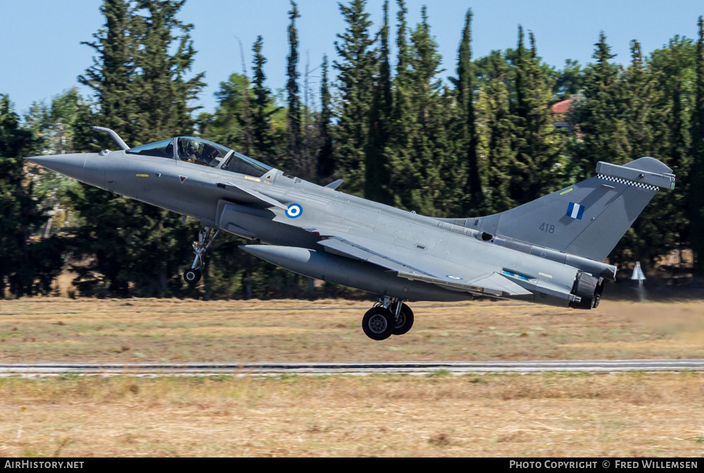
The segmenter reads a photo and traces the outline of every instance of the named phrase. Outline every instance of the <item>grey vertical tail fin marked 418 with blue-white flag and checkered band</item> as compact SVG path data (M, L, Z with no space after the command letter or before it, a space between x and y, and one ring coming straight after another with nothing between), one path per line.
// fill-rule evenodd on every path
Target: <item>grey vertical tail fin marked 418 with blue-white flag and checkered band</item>
M622 166L600 162L596 172L596 177L574 186L503 213L467 219L463 225L604 260L658 189L674 189L674 175L654 158L640 158Z

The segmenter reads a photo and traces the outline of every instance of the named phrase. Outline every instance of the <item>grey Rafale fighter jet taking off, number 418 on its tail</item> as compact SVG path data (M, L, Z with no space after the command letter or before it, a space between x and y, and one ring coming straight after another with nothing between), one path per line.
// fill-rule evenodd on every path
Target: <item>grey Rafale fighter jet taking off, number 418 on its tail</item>
M408 301L475 297L596 308L616 266L603 263L672 170L654 158L600 162L596 176L503 213L434 218L337 191L201 137L120 151L27 158L106 191L201 221L184 279L201 279L219 232L300 275L378 296L362 319L374 340L413 327Z

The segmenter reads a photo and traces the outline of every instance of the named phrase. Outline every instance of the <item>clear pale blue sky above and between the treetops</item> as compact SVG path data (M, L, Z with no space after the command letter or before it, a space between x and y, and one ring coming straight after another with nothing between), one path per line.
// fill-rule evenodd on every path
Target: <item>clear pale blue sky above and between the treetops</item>
M367 10L377 30L382 20L383 0L369 0ZM428 6L429 23L439 43L446 72L455 70L458 42L467 8L472 8L474 57L492 49L515 47L517 25L536 35L538 53L547 63L562 68L565 59L591 61L593 44L601 30L608 37L616 61L628 62L629 42L638 39L643 51L666 44L675 34L695 38L696 21L704 14L700 0L672 2L652 0L407 0L412 25L420 21L420 8ZM92 63L92 49L80 44L91 41L103 25L101 0L0 0L0 94L10 94L20 113L32 101L51 99L77 85L76 77ZM310 68L320 65L323 54L336 56L336 34L344 21L337 1L299 0L298 19L303 72L306 53ZM395 25L396 1L391 1ZM285 83L288 0L189 0L180 18L193 23L196 50L194 71L206 72L208 87L200 98L206 111L216 106L213 93L232 72L241 71L237 39L244 43L246 65L251 68L251 45L264 37L268 85L280 89ZM391 38L395 41L395 34ZM320 69L311 73L317 88ZM301 80L302 88L302 80ZM82 88L87 94L87 89Z

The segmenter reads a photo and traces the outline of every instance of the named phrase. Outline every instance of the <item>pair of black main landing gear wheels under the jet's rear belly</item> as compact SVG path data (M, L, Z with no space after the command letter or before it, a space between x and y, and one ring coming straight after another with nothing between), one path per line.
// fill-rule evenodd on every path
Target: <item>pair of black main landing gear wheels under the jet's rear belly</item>
M386 296L379 299L362 317L364 334L372 340L386 340L403 335L413 327L413 310L401 299Z

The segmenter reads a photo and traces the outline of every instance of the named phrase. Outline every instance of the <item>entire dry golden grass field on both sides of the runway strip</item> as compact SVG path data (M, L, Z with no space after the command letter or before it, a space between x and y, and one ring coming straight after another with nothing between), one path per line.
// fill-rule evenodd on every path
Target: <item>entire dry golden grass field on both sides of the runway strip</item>
M704 303L0 301L0 361L704 358ZM696 456L704 374L0 378L0 456Z

